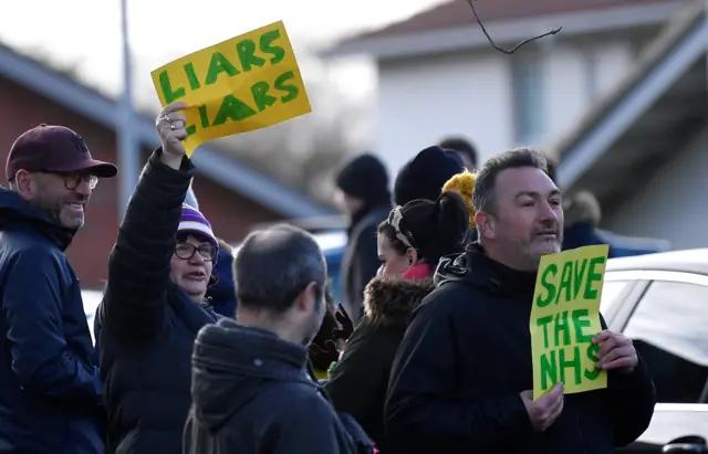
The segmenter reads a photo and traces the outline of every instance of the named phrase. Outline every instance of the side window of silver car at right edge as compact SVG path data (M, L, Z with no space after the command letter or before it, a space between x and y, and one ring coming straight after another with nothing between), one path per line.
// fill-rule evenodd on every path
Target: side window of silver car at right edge
M698 402L708 379L708 287L653 282L625 328L659 402Z

